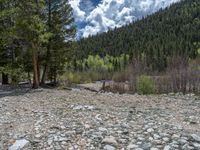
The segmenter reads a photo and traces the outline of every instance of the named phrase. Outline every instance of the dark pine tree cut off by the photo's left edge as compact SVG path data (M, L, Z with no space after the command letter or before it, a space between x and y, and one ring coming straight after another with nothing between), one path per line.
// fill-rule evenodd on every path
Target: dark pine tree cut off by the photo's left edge
M2 84L8 84L9 72L13 69L12 60L15 53L12 49L15 2L0 0L0 9L0 72L2 72Z

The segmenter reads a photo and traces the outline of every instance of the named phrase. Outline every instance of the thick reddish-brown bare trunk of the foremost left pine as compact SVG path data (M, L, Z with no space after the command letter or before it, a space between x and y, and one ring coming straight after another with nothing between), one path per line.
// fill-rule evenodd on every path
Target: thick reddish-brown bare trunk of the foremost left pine
M39 87L37 46L32 43L33 88Z

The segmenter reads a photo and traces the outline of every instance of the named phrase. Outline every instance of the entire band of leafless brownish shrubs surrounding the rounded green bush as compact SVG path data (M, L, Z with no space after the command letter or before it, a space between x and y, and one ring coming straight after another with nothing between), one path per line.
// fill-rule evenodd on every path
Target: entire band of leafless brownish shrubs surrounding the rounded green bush
M133 59L128 67L127 74L126 78L129 78L128 88L124 88L121 82L113 82L109 86L110 91L120 93L139 92L137 79L141 75L148 75L155 83L156 93L200 94L200 59L189 60L187 57L173 57L168 60L168 67L163 72L151 72L145 63Z

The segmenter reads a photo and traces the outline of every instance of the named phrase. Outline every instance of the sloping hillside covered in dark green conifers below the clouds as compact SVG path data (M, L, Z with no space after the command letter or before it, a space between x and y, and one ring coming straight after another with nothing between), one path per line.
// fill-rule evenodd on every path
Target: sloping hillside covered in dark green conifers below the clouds
M200 1L182 0L125 27L81 39L76 56L83 59L126 53L146 59L152 69L161 70L168 57L196 57L199 45Z

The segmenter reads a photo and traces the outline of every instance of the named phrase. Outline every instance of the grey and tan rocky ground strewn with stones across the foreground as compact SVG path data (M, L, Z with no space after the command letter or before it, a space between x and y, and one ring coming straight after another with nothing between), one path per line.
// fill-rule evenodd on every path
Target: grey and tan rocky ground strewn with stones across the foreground
M200 98L0 90L1 150L200 150Z

